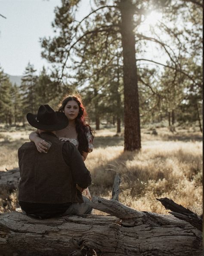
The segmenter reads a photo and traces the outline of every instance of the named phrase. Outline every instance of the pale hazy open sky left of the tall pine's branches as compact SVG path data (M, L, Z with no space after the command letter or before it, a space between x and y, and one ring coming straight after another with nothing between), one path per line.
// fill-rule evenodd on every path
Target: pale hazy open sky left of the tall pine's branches
M53 35L56 6L61 0L0 0L0 14L6 17L0 16L0 66L5 73L22 75L29 61L38 72L48 66L40 56L39 38Z

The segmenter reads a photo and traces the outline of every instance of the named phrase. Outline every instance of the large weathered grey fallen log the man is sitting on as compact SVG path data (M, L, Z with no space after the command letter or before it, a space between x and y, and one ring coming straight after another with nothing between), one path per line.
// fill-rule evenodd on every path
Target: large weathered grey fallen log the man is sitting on
M173 215L136 211L121 204L117 200L119 180L114 184L115 199L92 199L93 208L111 216L36 220L19 212L1 214L0 256L202 255L200 228Z

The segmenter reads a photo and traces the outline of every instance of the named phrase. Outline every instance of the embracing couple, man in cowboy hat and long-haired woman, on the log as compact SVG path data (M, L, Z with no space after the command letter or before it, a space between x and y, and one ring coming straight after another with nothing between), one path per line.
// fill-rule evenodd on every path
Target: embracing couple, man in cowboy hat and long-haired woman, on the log
M91 214L87 189L91 176L83 161L93 150L93 131L85 123L85 113L80 98L68 96L59 112L41 105L37 114L27 114L37 132L18 151L19 205L24 214L33 218Z

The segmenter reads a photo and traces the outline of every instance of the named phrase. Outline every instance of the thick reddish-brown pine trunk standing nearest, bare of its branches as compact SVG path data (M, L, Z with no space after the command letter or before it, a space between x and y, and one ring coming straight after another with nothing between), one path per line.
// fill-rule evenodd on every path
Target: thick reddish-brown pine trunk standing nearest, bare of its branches
M130 0L121 0L121 36L123 46L124 79L124 150L141 148L138 78L133 32L134 6Z

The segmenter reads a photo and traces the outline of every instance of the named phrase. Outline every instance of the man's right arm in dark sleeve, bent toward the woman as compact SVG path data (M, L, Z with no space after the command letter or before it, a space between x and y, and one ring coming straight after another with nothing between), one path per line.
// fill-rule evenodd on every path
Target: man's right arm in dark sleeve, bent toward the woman
M74 182L85 189L91 184L91 175L77 148L70 142L65 142L62 147L65 163L70 167Z

